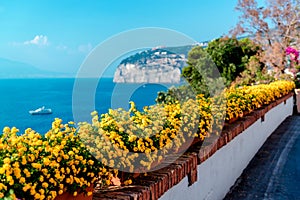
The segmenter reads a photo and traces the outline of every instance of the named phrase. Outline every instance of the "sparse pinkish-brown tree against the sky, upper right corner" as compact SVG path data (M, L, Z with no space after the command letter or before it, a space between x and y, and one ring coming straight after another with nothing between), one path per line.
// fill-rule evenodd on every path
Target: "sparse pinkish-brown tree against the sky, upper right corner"
M238 0L241 12L233 36L250 35L262 45L260 61L283 72L286 65L285 50L299 46L300 0L266 0L265 7L256 0ZM297 48L297 47L296 47ZM299 48L298 48L299 49Z

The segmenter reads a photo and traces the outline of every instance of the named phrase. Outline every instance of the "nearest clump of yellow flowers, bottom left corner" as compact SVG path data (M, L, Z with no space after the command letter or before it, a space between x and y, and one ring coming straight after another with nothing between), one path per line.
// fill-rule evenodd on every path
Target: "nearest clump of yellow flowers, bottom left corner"
M0 198L10 190L20 199L54 199L64 192L91 195L88 187L111 177L80 141L72 122L55 119L45 136L31 129L17 133L5 127L0 138Z

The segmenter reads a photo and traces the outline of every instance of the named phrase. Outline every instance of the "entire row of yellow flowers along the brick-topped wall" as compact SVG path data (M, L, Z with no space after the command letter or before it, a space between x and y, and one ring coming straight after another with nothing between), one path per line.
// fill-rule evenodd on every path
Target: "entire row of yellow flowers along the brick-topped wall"
M114 183L121 175L116 169L155 169L168 155L184 152L195 137L201 142L220 134L223 118L241 118L293 89L293 82L277 81L143 111L131 103L129 111L109 110L100 117L94 112L92 123L79 123L78 128L56 119L44 137L31 129L18 135L16 128L6 127L0 138L0 198L54 199L64 192L76 196L96 181L100 188ZM130 178L122 184L130 184Z

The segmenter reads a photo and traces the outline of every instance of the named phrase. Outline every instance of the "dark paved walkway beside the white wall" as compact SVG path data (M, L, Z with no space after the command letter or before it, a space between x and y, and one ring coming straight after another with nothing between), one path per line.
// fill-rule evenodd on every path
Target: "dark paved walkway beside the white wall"
M300 199L300 116L268 138L224 200Z

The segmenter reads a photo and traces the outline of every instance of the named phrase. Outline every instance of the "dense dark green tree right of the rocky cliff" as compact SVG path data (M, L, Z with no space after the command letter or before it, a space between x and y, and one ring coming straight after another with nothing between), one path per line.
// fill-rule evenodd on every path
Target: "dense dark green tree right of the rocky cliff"
M259 50L260 46L248 38L213 40L207 48L197 46L189 52L188 65L183 68L182 76L195 93L211 96L218 93L224 84L229 86L235 81L248 67L249 61L255 60ZM261 71L263 65L256 62L255 67Z

